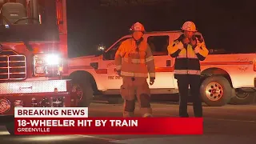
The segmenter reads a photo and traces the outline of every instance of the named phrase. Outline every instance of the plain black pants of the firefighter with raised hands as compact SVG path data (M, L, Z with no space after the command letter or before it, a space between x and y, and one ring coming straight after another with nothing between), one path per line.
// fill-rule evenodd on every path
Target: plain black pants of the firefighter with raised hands
M195 117L202 117L202 101L200 98L200 75L178 75L178 91L179 91L179 116L189 117L187 113L187 102L190 94L193 99L193 109Z

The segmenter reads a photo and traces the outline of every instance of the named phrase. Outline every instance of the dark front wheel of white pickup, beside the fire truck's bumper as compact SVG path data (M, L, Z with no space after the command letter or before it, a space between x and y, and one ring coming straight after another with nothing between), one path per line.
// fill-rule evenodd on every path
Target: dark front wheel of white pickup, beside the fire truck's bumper
M77 106L88 107L93 99L94 90L91 84L84 82L85 79L73 82L73 92L77 94Z

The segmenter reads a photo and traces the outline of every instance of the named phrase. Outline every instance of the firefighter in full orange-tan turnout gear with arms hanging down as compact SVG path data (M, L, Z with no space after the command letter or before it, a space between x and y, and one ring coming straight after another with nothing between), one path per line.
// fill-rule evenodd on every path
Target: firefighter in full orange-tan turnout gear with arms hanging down
M142 37L144 26L136 22L130 30L132 38L122 42L115 54L115 70L122 76L120 93L125 100L123 117L134 116L135 95L142 117L152 117L150 88L146 79L150 75L150 85L154 84L154 57L150 46Z

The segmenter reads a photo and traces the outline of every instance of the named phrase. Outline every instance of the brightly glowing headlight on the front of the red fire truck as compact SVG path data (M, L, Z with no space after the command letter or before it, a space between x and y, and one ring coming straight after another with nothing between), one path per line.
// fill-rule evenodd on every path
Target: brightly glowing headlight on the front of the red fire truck
M55 76L62 73L62 58L58 54L34 55L35 76Z

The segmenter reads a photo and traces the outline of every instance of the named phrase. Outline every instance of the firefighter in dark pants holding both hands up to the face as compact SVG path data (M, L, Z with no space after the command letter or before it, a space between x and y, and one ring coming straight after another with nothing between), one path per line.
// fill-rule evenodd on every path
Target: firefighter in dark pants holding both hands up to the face
M168 53L175 58L174 78L178 81L180 94L179 116L189 117L187 113L187 99L190 86L193 98L194 116L202 117L202 102L200 97L200 61L203 61L209 51L205 42L197 35L194 22L185 22L182 26L183 34L168 46Z

